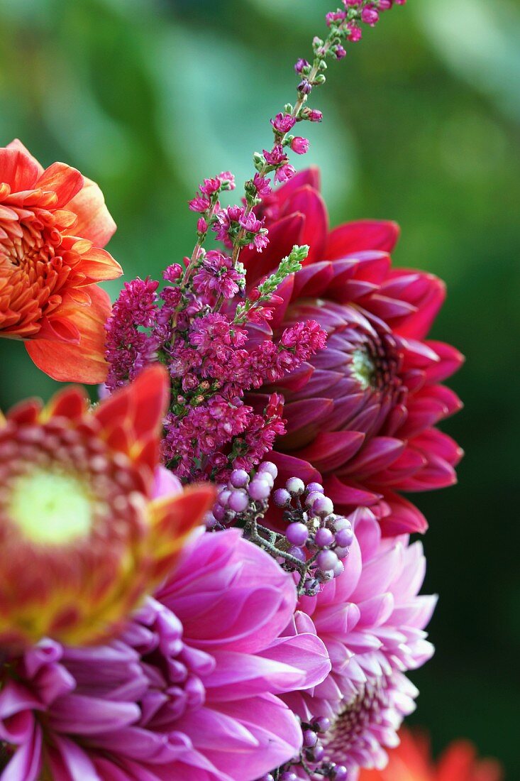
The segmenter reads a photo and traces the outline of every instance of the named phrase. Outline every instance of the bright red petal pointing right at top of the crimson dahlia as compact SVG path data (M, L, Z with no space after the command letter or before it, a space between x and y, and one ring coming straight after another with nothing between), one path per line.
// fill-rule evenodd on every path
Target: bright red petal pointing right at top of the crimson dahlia
M346 223L329 234L325 256L327 260L335 260L360 250L391 252L397 244L399 233L397 223L383 220L360 219L356 223Z

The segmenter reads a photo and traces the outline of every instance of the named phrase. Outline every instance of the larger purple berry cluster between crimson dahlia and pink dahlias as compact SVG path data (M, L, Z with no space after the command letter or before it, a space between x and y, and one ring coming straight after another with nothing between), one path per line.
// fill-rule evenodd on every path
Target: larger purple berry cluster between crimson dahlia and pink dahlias
M263 462L254 476L233 469L218 487L217 500L206 517L210 530L240 526L244 536L268 551L284 569L299 575L298 593L314 596L322 583L344 571L344 559L354 538L351 522L334 512L333 502L319 483L291 477L273 490L278 470ZM283 509L285 533L261 525L269 503Z

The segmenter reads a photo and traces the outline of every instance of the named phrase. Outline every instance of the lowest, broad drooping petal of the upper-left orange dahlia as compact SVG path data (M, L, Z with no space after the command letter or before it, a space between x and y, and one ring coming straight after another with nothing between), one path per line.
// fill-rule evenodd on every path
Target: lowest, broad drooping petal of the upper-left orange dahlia
M59 382L95 384L105 382L105 323L111 305L109 295L92 285L88 288L91 306L82 306L69 317L81 334L79 345L33 339L25 346L42 372Z

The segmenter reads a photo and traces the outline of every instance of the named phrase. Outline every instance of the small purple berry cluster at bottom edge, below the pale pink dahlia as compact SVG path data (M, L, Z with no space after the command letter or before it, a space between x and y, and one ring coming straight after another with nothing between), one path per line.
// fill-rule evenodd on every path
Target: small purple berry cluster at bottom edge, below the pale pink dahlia
M347 781L348 770L344 765L323 759L325 749L322 746L322 736L330 726L330 720L324 717L302 724L303 747L300 756L287 765L266 773L258 781L299 781L301 776L294 772L298 767L304 769L309 778L322 776L330 781Z

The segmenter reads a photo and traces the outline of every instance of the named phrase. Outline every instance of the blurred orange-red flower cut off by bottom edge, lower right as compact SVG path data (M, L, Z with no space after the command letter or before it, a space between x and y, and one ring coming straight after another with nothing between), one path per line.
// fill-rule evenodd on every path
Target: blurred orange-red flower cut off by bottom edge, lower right
M362 770L359 781L502 781L504 773L497 761L479 760L466 740L447 747L436 765L431 759L429 740L420 734L401 730L401 744L390 751L384 770Z

